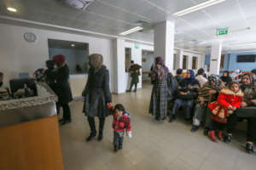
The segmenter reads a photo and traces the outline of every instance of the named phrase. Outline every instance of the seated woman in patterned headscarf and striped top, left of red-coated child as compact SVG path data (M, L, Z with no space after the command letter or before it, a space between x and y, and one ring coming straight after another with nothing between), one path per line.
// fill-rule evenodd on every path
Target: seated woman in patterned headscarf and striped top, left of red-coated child
M205 121L207 105L218 98L218 94L222 88L224 86L222 86L221 80L217 75L208 77L208 82L199 90L191 132L195 132L200 127L201 122Z

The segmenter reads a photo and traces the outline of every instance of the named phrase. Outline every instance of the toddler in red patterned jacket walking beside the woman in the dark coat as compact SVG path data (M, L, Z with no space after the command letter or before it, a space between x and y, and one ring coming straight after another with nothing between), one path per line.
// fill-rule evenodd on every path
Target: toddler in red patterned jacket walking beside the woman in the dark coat
M121 104L113 108L113 150L114 152L123 149L125 132L131 138L130 114L125 111Z

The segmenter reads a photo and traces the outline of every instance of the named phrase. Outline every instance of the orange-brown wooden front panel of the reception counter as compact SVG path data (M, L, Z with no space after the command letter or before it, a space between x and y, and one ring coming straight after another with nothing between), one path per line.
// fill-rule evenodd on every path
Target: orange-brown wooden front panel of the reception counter
M63 170L57 116L0 128L1 170Z

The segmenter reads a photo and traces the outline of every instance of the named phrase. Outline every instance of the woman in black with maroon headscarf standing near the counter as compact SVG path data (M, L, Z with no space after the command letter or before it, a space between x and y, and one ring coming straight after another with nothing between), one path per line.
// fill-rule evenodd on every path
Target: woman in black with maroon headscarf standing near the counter
M63 108L63 118L61 125L71 122L71 114L68 103L73 100L71 88L69 85L69 69L65 62L65 56L62 54L55 55L53 62L58 67L55 72L55 93L58 96L57 111Z

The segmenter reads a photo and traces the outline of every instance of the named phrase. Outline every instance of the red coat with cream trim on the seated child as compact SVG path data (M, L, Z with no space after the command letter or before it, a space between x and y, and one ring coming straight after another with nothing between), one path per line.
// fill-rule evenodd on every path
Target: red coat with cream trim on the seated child
M217 122L227 123L228 107L230 105L240 108L241 99L243 93L239 90L234 93L229 88L224 88L218 95L217 101L214 101L208 105L208 108L212 111L212 120Z

